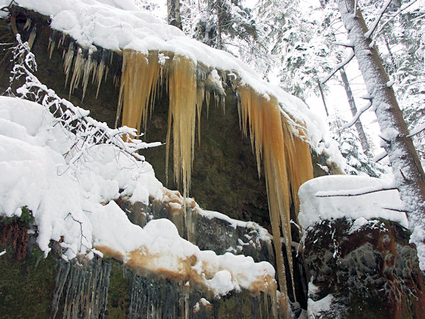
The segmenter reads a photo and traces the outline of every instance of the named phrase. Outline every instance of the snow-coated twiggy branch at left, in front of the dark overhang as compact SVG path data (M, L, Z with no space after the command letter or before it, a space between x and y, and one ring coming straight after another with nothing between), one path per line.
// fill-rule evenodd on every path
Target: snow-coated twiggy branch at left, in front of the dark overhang
M90 147L98 144L114 145L126 156L141 161L144 161L145 157L138 154L139 150L161 145L160 142L146 143L137 140L136 138L141 135L137 135L135 128L128 128L127 126L109 128L106 123L101 123L91 118L89 111L74 106L66 99L61 99L55 91L48 89L33 74L33 71L37 69L37 64L35 56L30 52L28 43L23 43L19 34L16 35L16 40L18 40L18 45L12 48L15 65L11 71L10 86L6 93L9 96L14 96L11 89L13 83L21 79L21 77L25 77L25 84L16 89L18 97L35 101L45 106L55 117L56 124L59 124L64 129L69 138L74 139L72 147L64 154L65 157L72 154L69 159L69 166L72 167L78 159L84 157Z

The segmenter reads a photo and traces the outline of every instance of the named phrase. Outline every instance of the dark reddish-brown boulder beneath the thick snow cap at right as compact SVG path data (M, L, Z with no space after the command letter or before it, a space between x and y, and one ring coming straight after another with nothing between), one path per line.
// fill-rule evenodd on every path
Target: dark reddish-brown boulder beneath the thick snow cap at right
M409 231L362 219L324 220L307 230L312 318L423 318L424 274Z

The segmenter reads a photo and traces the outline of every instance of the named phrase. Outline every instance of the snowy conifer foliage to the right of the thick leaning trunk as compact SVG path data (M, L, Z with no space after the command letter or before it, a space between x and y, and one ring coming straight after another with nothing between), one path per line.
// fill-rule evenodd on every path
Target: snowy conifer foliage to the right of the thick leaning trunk
M425 125L425 16L415 1L392 1L386 20L380 23L375 34L382 62L395 82L394 89L409 130ZM366 1L363 11L366 21L372 24L382 3ZM368 18L371 17L371 18ZM414 145L419 157L425 159L425 133L415 135Z

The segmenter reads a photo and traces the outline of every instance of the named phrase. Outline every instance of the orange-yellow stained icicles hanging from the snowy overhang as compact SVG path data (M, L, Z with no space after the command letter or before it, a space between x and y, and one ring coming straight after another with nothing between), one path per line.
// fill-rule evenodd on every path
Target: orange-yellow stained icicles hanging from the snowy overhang
M100 68L100 67L99 67ZM137 70L137 72L135 71ZM137 128L146 126L149 109L152 111L157 86L166 80L169 93L169 118L166 136L166 176L168 176L169 145L173 136L174 178L179 187L183 181L183 197L188 196L191 186L191 169L194 157L196 118L200 123L200 111L205 102L210 102L210 90L203 87L202 77L196 65L186 57L176 55L172 60L159 63L157 52L142 55L139 52L123 52L123 72L117 111L117 122L123 107L123 125ZM237 74L228 74L230 83L236 88L239 125L244 135L251 140L256 157L257 171L261 174L263 162L268 194L268 206L273 230L273 245L276 250L278 282L284 296L288 296L286 274L280 237L283 235L290 268L293 291L293 259L290 233L290 204L294 203L296 213L299 208L297 191L299 186L311 179L312 162L309 145L293 137L289 122L295 122L283 116L275 97L260 96L246 85L237 86ZM225 73L220 72L221 81ZM217 82L218 83L218 82ZM222 82L220 82L222 83ZM221 86L221 84L220 84ZM222 88L224 93L224 89ZM221 102L224 108L224 94L212 90L216 105ZM302 127L302 123L297 123ZM200 135L200 130L198 130ZM183 201L185 203L185 201ZM187 216L190 219L190 216ZM287 297L285 297L287 298ZM286 300L286 299L285 299Z

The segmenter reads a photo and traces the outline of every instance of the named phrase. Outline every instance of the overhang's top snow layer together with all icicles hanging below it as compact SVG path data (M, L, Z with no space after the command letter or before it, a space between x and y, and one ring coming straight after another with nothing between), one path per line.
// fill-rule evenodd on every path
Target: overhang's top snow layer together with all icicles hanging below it
M188 196L191 184L196 118L204 99L208 108L210 94L216 102L222 99L221 82L232 82L241 128L251 138L259 172L263 161L276 251L281 252L283 235L292 277L290 204L297 211L297 189L312 178L310 147L338 158L326 150L330 144L323 142L323 126L304 103L259 80L256 72L227 52L186 38L180 30L135 11L129 1L119 6L108 0L16 2L50 16L50 26L62 33L59 41L60 34L52 33L49 54L55 43L64 44L64 35L71 39L63 52L69 94L81 82L85 92L90 77L99 88L112 57L123 59L120 74L114 74L115 84L120 82L118 116L122 111L123 125L140 132L152 112L159 86L166 86L170 99L166 157L168 161L172 134L174 178L183 181L184 196ZM277 259L280 289L285 290L281 253Z

